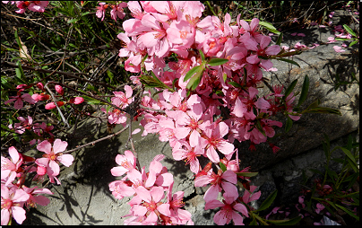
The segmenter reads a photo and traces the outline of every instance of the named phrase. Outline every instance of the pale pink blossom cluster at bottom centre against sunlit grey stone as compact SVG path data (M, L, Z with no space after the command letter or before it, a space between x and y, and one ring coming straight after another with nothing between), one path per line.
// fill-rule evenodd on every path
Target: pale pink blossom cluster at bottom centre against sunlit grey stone
M173 175L160 163L164 157L163 154L156 155L146 172L145 166L141 171L136 168L136 158L131 151L116 155L119 166L112 168L112 175L125 176L109 183L109 190L117 199L133 197L128 202L130 213L124 215L130 216L125 225L194 224L191 214L181 209L185 206L184 192L172 194Z

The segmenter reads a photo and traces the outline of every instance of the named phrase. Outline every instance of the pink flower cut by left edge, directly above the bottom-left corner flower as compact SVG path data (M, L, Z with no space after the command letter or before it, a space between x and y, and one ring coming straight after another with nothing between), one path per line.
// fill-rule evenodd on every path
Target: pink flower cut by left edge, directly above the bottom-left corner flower
M15 147L9 148L11 160L1 156L1 182L9 186L16 178L17 172L22 165L22 153L18 153Z

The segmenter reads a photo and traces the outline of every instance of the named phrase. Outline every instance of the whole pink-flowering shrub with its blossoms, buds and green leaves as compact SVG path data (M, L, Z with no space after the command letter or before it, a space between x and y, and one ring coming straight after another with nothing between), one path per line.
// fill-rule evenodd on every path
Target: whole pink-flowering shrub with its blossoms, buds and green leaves
M7 1L3 3L7 4ZM24 13L26 8L43 13L48 2L12 1L12 4L19 8L16 13ZM81 1L77 10L85 4ZM72 3L66 5L73 7ZM215 224L229 224L231 220L234 224L244 224L246 217L252 220L251 224L286 222L267 221L258 215L271 206L276 192L260 208L250 205L261 197L261 191L255 191L257 187L249 185L250 177L256 173L239 167L238 153L241 152L233 143L235 140L247 141L250 150L255 150L255 145L268 143L271 152L277 153L280 148L271 142L271 138L275 136L275 127L283 126L275 120L278 114L288 119L287 131L293 121L308 112L340 114L338 110L319 107L318 101L306 110L300 110L308 92L307 76L298 101L293 92L297 80L288 88L273 85L271 93L260 95L258 88L264 80L263 71L277 71L272 67L271 59L297 65L285 57L296 55L305 47L280 48L281 34L279 41L271 45L271 37L263 34L261 25L278 31L257 18L246 21L238 14L236 21L232 22L229 13L223 18L203 16L205 6L201 2L99 3L95 14L101 22L105 20L108 8L112 8L110 15L115 22L125 18L126 8L132 15L122 23L124 32L116 35L116 39L122 42L117 56L124 61L125 71L136 74L130 77L132 83L125 84L123 89L108 85L113 95L110 99L102 99L92 92L84 92L84 89L74 89L69 83L47 80L43 85L39 81L28 82L18 62L16 74L24 83L16 87L16 96L9 96L4 104L15 101L14 109L21 110L23 101L30 104L42 102L45 110L58 113L68 127L62 110L69 107L92 117L89 112L78 108L84 98L107 105L101 111L107 114L109 125L130 127L126 125L128 119L142 118L142 136L158 134L161 142L168 142L171 146L175 160L190 165L195 176L194 186L210 186L203 199L205 210L220 208L213 217ZM62 8L58 10L69 13L68 16L74 13L73 8L69 12ZM80 18L68 23L78 22ZM22 46L20 39L18 44ZM47 73L53 75L55 72ZM82 80L77 76L73 78ZM86 82L91 83L91 80ZM54 87L49 88L49 85ZM25 90L30 93L23 93ZM82 97L74 97L71 92ZM155 94L158 94L157 98ZM41 158L35 159L18 153L12 146L9 148L11 159L2 156L2 225L11 224L12 216L22 224L25 220L23 206L48 204L47 197L38 194L52 194L49 189L24 185L28 173L36 172L32 180L43 182L47 175L51 183L61 184L57 178L59 162L69 167L74 160L73 155L68 154L70 151L65 151L67 142L51 133L53 126L45 122L33 123L30 116L18 117L18 120L21 123L11 123L8 128L20 135L31 134L34 138L29 141L30 145L36 145L43 153ZM136 129L130 138L137 132ZM132 138L130 141L132 144ZM198 160L201 156L210 161L204 167ZM113 176L121 177L109 183L112 195L117 199L132 197L128 202L131 209L124 215L129 217L125 224L194 224L192 215L182 209L185 206L184 192L172 192L173 175L161 164L164 155L159 154L151 161L149 172L145 171L145 166L141 168L137 157L133 146L132 151L126 150L125 154L116 156L118 166L110 171ZM240 183L244 183L241 191L237 188ZM323 210L323 206L318 210ZM294 218L290 223L297 223L299 219Z

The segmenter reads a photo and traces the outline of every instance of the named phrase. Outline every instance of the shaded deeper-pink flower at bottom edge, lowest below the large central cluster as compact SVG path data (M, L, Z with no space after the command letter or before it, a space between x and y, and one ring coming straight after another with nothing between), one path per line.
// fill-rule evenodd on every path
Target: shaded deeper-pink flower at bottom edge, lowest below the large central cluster
M243 225L243 217L238 213L240 212L243 215L246 215L246 217L249 217L246 206L237 203L237 196L228 196L226 193L224 193L223 196L225 198L225 200L222 200L223 203L217 199L206 202L205 210L221 207L220 211L213 217L215 224L229 224L230 221L233 220L235 225Z

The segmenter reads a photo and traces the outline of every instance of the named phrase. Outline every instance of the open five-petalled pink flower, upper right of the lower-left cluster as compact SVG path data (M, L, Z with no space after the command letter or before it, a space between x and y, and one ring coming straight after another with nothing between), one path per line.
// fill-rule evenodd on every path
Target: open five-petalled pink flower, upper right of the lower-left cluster
M49 176L50 182L54 183L54 178L59 174L59 164L58 162L63 163L66 167L72 165L74 160L72 154L63 154L68 143L60 139L54 141L53 146L47 141L41 142L37 149L41 152L44 152L42 158L37 159L35 162L47 168L47 175ZM56 181L60 184L59 180Z

